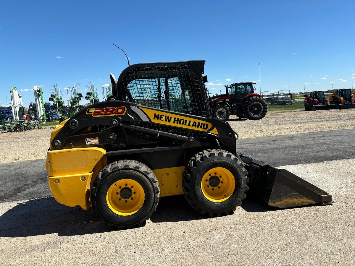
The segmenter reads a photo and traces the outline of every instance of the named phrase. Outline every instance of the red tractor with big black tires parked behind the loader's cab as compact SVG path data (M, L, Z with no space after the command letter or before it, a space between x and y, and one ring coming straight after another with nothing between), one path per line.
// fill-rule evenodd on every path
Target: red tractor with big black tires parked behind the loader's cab
M224 121L232 114L250 120L262 119L268 106L260 94L254 93L253 84L256 82L239 82L224 86L226 94L210 98L214 117Z

